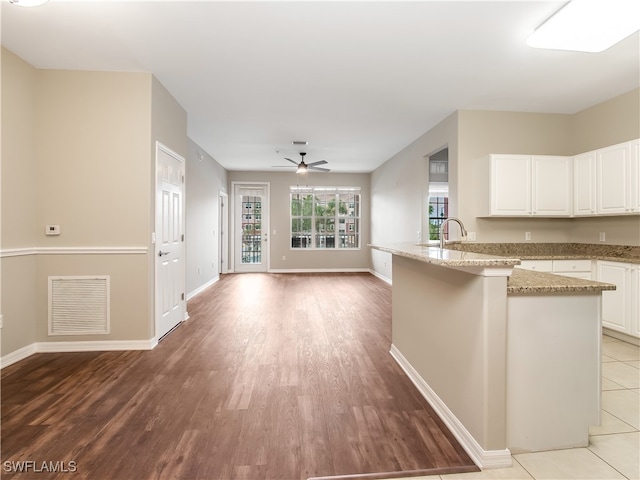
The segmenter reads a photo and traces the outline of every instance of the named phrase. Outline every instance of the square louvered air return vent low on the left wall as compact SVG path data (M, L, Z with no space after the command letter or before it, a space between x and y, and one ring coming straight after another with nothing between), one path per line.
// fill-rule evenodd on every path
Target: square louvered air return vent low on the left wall
M49 335L110 331L109 276L49 277Z

